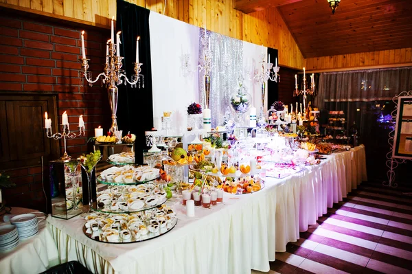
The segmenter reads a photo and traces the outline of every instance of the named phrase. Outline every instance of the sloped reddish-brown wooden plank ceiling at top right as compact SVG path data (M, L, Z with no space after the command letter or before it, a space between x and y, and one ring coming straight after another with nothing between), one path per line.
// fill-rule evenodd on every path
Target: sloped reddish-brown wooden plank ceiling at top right
M327 0L290 1L270 2L279 7L305 58L412 45L411 0L341 0L335 14ZM253 10L252 2L258 7L269 1L238 2Z

